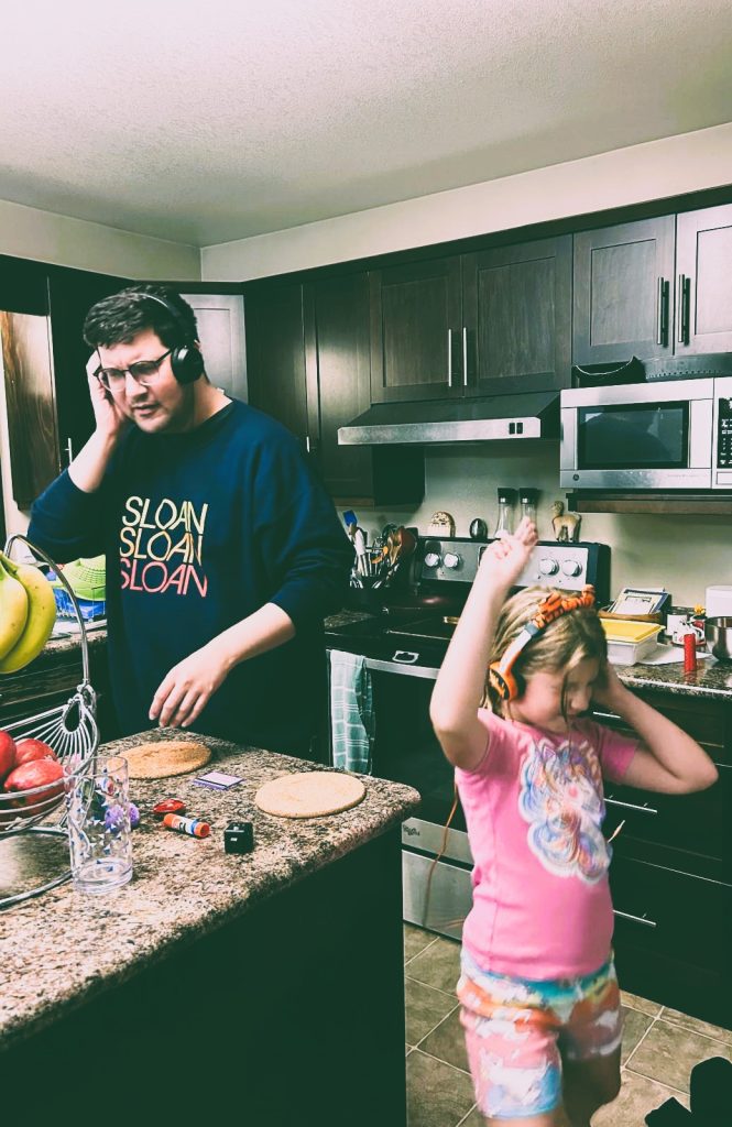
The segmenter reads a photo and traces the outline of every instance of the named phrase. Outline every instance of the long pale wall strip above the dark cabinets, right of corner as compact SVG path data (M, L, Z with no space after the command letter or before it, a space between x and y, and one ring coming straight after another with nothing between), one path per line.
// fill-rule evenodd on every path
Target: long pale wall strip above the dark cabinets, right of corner
M245 281L732 184L732 123L204 247L202 277Z

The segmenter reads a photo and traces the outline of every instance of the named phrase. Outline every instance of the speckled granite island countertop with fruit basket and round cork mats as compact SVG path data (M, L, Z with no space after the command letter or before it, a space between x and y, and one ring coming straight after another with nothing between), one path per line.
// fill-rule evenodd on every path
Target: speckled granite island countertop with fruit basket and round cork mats
M29 1036L60 1012L161 959L174 944L213 931L398 826L420 802L409 787L360 775L365 798L350 810L319 818L274 817L254 805L264 782L292 771L328 769L193 733L186 737L204 739L213 749L208 767L177 779L131 783L142 820L133 833L134 876L129 885L96 897L76 893L67 882L0 914L0 1045ZM124 754L125 747L165 738L170 738L169 730L156 729L104 749ZM217 764L244 781L229 791L193 786L196 774ZM150 811L167 797L182 798L189 815L205 818L211 836L197 840L164 829ZM254 823L253 853L223 852L223 829L232 818ZM48 859L51 845L55 848ZM24 873L24 887L52 879L68 867L62 850L59 838L0 837L2 885L14 870ZM30 881L29 867L35 878Z

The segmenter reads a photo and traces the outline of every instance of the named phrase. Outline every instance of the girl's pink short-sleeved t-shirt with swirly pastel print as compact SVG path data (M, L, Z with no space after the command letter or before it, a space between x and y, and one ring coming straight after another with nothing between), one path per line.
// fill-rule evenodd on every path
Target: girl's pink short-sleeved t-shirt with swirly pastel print
M486 709L478 718L486 754L456 770L475 860L462 941L497 974L592 974L612 938L602 775L619 781L638 740L591 720L557 736Z

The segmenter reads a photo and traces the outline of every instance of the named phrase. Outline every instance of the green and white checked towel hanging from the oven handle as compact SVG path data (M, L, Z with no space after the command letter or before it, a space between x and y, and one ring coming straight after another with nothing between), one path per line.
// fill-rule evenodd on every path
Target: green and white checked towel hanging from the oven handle
M371 674L361 654L330 650L333 765L371 774L376 735Z

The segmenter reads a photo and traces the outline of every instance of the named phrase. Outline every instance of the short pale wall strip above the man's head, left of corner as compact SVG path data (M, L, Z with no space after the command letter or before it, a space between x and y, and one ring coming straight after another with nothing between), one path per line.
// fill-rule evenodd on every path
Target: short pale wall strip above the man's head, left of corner
M200 279L201 252L0 199L0 255L131 278Z

